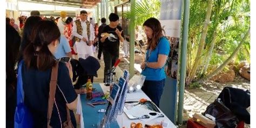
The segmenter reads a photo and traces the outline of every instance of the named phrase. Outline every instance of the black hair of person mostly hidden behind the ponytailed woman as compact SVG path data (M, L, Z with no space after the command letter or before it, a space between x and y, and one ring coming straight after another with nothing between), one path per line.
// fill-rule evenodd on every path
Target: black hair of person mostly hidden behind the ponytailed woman
M31 31L32 31L33 27L41 20L42 20L42 18L39 16L30 16L29 18L26 19L24 29L23 29L23 35L22 35L21 59L23 56L24 49L30 42L30 35L31 35Z

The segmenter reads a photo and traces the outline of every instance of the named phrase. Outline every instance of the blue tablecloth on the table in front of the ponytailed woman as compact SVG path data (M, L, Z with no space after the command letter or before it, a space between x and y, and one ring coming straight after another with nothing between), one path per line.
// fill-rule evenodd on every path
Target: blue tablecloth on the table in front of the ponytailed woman
M93 88L96 88L96 91L103 92L102 88L100 87L99 83L93 83ZM84 127L98 127L99 122L103 119L104 113L99 113L98 110L106 109L107 104L103 105L95 105L92 107L87 105L86 103L91 103L90 100L86 99L86 95L81 95L81 103L82 103L82 110L83 110L83 118L84 118ZM117 122L110 124L111 128L119 127Z

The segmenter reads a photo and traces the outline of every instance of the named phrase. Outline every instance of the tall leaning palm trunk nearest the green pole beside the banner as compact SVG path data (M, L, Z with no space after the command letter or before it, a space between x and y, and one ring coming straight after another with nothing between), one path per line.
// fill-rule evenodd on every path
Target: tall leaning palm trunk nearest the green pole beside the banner
M200 62L201 54L203 52L204 45L205 45L205 38L207 35L208 24L210 23L212 5L213 5L213 0L209 0L207 3L206 18L205 18L204 28L202 30L199 46L198 46L197 56L196 56L196 59L194 60L192 71L191 71L190 75L188 76L188 79L186 80L187 85L190 84L191 81L194 79L194 76L196 76L196 72L198 69L199 62Z

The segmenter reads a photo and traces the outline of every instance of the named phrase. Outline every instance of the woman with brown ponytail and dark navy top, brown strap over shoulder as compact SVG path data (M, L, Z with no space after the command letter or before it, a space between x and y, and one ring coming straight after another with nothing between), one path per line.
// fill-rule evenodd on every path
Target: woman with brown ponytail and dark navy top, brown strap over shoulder
M51 21L40 21L32 29L30 43L23 54L22 79L24 103L32 113L35 126L47 127L49 86L52 67L57 64L53 56L59 44L58 26ZM55 102L50 126L62 127L67 119L66 106L70 109L71 121L76 127L73 109L76 109L77 94L73 89L67 64L58 63L58 78Z

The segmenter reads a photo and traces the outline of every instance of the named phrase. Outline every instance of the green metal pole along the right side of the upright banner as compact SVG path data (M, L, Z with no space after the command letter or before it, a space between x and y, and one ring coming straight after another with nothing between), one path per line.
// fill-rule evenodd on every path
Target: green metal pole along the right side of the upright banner
M184 89L186 78L186 55L187 55L187 38L188 22L190 16L190 0L184 0L183 31L181 41L181 64L180 64L180 82L179 82L179 103L178 103L178 124L183 123L183 103Z

